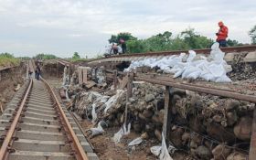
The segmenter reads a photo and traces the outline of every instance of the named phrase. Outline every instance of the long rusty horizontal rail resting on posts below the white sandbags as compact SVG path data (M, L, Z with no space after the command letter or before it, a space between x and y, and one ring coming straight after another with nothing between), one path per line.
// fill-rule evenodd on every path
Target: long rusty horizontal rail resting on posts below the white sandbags
M232 92L232 91L221 91L219 89L180 84L180 83L177 83L177 82L174 82L174 81L152 80L152 79L142 78L142 77L134 77L134 80L141 80L141 81L151 82L151 83L155 83L155 84L171 86L171 87L175 87L175 88L183 89L183 90L198 91L198 92L208 93L208 94L222 96L222 97L233 98L233 99L242 100L242 101L256 102L256 96L235 93L235 92Z

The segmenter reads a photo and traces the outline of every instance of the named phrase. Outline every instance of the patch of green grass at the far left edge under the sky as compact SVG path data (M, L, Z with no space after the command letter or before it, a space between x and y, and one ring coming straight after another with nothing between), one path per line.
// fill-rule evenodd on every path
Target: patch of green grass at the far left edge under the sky
M0 54L0 66L15 66L18 65L20 62L19 59L16 59L12 54L10 53L1 53Z

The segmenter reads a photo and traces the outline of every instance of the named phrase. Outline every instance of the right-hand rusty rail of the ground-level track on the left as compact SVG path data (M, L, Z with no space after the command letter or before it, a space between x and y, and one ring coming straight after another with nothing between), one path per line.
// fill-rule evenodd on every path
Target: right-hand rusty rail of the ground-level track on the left
M50 85L48 84L48 82L44 79L41 78L41 80L46 84L46 87L48 88L49 93L51 94L51 96L53 97L54 101L56 102L56 107L59 111L59 116L61 118L61 123L63 123L64 129L66 130L66 132L68 132L68 137L70 142L70 145L72 147L72 149L75 151L75 156L78 160L88 160L88 156L85 154L80 141L76 135L76 133L74 133L71 124L69 123L69 120L67 118L67 116L65 115L64 111L62 110L62 107L59 103L59 100L57 98L57 96L55 95L53 89L50 87Z

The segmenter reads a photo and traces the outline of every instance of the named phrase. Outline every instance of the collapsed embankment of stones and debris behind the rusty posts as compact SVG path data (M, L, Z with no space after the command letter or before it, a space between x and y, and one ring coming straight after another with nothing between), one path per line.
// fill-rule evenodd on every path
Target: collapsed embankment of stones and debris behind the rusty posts
M255 63L245 63L238 55L235 61L229 64L232 66L232 71L228 75L233 80L229 84L179 80L256 95ZM114 91L112 83L104 83L102 80L101 83L97 83L95 80L96 83L90 85L89 83L78 85L77 74L73 75L71 81L74 83L69 87L69 97L71 97L69 106L82 118L95 124L96 130L91 129L94 136L103 133L104 130L109 132L112 128L121 128L125 122L127 106L127 122L131 123L131 132L137 133L143 140L143 143L136 147L151 140L158 140L160 144L165 114L164 86L133 81L132 97L126 101L126 91ZM254 103L194 91L172 89L172 93L175 105L172 108L170 136L167 138L176 148L171 154L174 159L248 158ZM105 123L100 123L101 121ZM97 125L99 123L103 124L102 128ZM106 127L109 129L104 129ZM129 132L122 134L125 133ZM113 134L111 136L116 137ZM125 146L130 148L128 144L132 140L125 141ZM149 149L153 145L155 144L147 144L146 147Z

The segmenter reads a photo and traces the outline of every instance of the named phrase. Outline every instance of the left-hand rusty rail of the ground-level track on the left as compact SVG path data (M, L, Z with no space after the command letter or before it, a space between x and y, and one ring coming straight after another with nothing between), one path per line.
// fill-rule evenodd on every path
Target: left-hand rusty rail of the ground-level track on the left
M17 123L19 122L19 119L20 119L21 114L23 112L25 103L27 101L27 96L28 96L29 92L31 91L32 85L33 85L33 80L30 79L29 85L27 87L27 91L26 91L26 93L25 93L25 95L23 97L23 100L21 101L21 104L18 107L18 110L16 112L16 116L15 116L13 122L11 123L11 126L10 126L9 130L6 133L5 140L4 140L4 142L3 142L2 146L1 146L1 149L0 149L0 160L5 159L6 156L8 155L9 145L12 142L12 138L13 138L14 133L16 132Z

